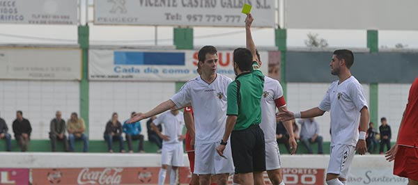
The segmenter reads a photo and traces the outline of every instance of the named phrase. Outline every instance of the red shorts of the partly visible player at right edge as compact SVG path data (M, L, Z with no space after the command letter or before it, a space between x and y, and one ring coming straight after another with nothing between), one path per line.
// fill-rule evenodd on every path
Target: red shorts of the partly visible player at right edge
M418 181L418 146L398 145L395 156L394 175Z

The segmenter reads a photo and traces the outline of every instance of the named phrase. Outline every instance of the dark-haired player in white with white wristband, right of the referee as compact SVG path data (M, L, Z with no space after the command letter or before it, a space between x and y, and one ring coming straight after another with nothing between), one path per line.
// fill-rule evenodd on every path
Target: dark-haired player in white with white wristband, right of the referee
M284 111L278 116L279 120L293 120L312 118L330 111L332 135L326 177L327 184L330 185L346 184L355 150L360 155L367 151L365 139L369 109L362 85L351 75L350 67L353 63L352 51L334 51L330 62L331 74L338 76L339 80L331 84L320 105L297 113Z

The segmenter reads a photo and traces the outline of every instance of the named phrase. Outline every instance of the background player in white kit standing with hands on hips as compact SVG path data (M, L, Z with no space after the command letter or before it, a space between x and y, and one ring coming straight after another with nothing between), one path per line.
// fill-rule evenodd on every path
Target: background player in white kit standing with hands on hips
M157 125L159 124L164 125L164 134L158 129ZM171 166L170 184L176 184L178 167L183 166L183 140L186 137L182 134L185 127L183 113L171 109L171 111L162 113L160 117L153 120L151 127L163 139L158 184L164 184L168 166Z

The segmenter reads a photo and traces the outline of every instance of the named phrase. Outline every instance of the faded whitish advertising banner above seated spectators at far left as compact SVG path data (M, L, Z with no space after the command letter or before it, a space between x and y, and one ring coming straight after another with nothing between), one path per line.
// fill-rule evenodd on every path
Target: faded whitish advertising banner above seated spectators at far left
M79 49L0 48L0 79L81 80Z

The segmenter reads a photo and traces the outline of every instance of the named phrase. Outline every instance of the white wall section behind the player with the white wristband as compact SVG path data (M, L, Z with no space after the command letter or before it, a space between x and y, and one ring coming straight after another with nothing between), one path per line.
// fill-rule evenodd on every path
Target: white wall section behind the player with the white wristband
M331 83L288 83L287 104L290 111L305 111L320 104ZM364 96L369 103L369 84L362 84ZM320 125L320 136L330 141L330 113L317 117ZM300 124L298 124L300 127Z

